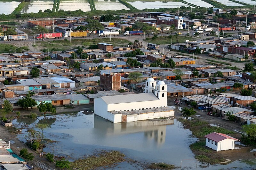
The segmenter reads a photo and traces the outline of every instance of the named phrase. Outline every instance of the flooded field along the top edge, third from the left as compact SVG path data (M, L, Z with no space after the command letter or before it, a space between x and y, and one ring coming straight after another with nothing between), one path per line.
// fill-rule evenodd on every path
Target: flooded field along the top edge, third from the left
M91 11L90 3L86 0L61 0L59 10L76 11L82 10L84 12Z

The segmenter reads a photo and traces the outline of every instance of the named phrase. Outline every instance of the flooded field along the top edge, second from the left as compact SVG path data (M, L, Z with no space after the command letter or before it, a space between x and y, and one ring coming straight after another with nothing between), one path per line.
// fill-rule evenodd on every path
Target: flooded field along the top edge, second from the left
M37 13L39 10L50 9L52 10L53 1L51 0L44 0L44 1L31 1L28 5L25 5L24 8L21 10L20 13Z

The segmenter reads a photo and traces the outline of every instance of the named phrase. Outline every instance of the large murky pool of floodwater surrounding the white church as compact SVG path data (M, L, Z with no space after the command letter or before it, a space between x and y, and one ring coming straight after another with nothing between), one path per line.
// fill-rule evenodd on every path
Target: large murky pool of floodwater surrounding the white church
M142 164L165 162L180 166L183 169L200 169L189 145L197 138L191 136L189 129L184 129L177 120L138 121L112 123L97 115L54 115L38 117L37 120L15 119L16 128L25 128L18 135L25 141L26 128L35 128L37 123L47 123L43 130L45 138L58 141L47 144L44 152L65 156L70 161L83 156L92 155L99 150L118 150L126 158L140 162L139 165L128 162L118 163L109 169L143 169ZM35 128L38 131L40 129ZM142 163L142 164L141 164ZM220 169L230 167L251 169L252 166L235 161L225 166L210 166L204 169Z

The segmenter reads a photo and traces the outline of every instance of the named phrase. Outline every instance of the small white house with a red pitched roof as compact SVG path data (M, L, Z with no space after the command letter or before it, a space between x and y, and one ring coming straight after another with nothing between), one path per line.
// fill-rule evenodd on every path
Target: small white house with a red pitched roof
M206 137L205 146L216 151L233 150L236 147L235 141L239 141L234 137L217 132L212 132L204 137Z

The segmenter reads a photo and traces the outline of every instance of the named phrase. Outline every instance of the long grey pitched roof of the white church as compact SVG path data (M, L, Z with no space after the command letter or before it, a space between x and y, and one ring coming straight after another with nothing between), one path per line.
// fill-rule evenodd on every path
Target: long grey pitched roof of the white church
M118 96L103 96L100 98L103 101L105 101L107 104L159 100L153 93L126 94L126 95L118 95Z

